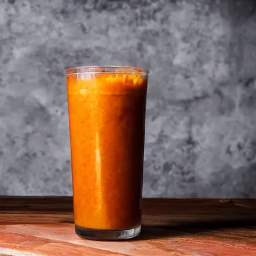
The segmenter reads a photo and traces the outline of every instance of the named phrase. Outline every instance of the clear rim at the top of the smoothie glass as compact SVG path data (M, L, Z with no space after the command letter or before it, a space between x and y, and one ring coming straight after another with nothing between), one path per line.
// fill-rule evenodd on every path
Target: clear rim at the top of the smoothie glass
M65 70L66 76L72 74L149 74L149 70L132 66L75 66Z

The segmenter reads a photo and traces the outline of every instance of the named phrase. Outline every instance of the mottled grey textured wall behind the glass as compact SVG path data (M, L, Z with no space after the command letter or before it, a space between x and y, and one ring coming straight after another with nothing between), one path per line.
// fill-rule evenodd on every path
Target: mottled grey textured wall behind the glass
M144 196L256 197L253 0L0 0L0 194L70 195L64 69L151 71Z

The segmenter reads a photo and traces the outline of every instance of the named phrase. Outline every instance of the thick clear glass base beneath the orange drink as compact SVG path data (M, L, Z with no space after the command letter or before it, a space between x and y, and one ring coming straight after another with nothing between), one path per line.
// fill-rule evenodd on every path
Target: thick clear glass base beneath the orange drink
M101 229L90 229L75 225L76 234L85 239L89 240L126 240L132 239L140 234L141 226L137 226L131 229L121 230L101 230Z

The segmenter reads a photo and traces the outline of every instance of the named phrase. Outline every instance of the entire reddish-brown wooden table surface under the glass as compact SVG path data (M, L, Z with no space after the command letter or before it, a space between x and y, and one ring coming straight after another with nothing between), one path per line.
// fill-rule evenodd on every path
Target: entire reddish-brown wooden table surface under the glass
M143 199L143 228L129 241L74 232L70 197L0 197L2 255L256 255L256 200Z

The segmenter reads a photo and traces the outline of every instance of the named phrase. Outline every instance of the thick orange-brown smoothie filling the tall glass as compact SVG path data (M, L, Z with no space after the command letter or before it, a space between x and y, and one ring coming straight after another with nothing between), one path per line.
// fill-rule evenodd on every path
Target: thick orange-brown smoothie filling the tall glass
M147 77L67 76L75 224L140 225Z

